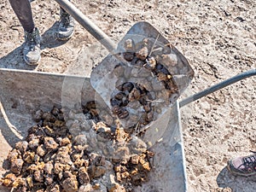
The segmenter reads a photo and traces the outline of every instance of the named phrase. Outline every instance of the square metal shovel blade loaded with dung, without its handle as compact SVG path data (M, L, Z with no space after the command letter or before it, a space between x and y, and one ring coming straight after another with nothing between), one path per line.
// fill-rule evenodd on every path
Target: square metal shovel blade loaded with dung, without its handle
M146 54L143 53L144 49ZM115 54L109 54L93 68L90 84L109 108L114 107L113 99L120 95L119 92L126 94L124 97L128 104L120 104L118 113L128 112L129 115L123 118L124 115L117 114L125 128L136 129L138 134L150 126L159 125L158 119L163 120L160 117L172 107L194 77L189 62L154 26L144 21L131 26L114 52ZM152 62L154 67L150 66ZM141 100L132 99L131 92L125 93L123 87L127 83L137 87L142 96L147 95L144 105ZM151 106L148 109L150 114L145 109L148 103ZM165 130L168 120L166 119L166 124L160 124L165 127L157 127L155 130Z

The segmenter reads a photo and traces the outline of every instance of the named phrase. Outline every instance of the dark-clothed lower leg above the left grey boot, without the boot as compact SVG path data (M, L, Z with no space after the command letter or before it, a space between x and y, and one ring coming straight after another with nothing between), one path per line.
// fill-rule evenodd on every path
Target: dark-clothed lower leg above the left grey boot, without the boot
M34 21L32 18L31 5L28 0L9 0L12 8L15 11L18 19L20 20L21 26L24 31L32 32L35 28Z

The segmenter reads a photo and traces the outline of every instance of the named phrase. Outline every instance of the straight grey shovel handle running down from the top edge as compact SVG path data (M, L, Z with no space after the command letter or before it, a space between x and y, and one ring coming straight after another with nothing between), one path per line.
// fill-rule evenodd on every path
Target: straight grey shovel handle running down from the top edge
M86 17L79 9L77 9L73 3L68 0L55 0L55 2L61 5L62 9L65 9L68 14L72 15L75 20L79 22L90 34L95 37L110 53L114 53L115 44L108 37L105 32L96 26L88 17Z

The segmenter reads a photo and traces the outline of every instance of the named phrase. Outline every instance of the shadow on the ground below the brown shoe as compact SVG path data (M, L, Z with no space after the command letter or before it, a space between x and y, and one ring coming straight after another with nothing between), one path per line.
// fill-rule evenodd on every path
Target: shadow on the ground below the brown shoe
M232 175L226 167L218 174L218 187L230 188L232 192L255 192L256 176L241 177Z

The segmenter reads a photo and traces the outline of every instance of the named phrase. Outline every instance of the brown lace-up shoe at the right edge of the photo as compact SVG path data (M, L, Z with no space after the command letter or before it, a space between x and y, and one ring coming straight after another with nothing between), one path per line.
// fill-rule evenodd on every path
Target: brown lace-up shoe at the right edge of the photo
M228 170L235 175L252 176L256 174L256 152L228 161Z

